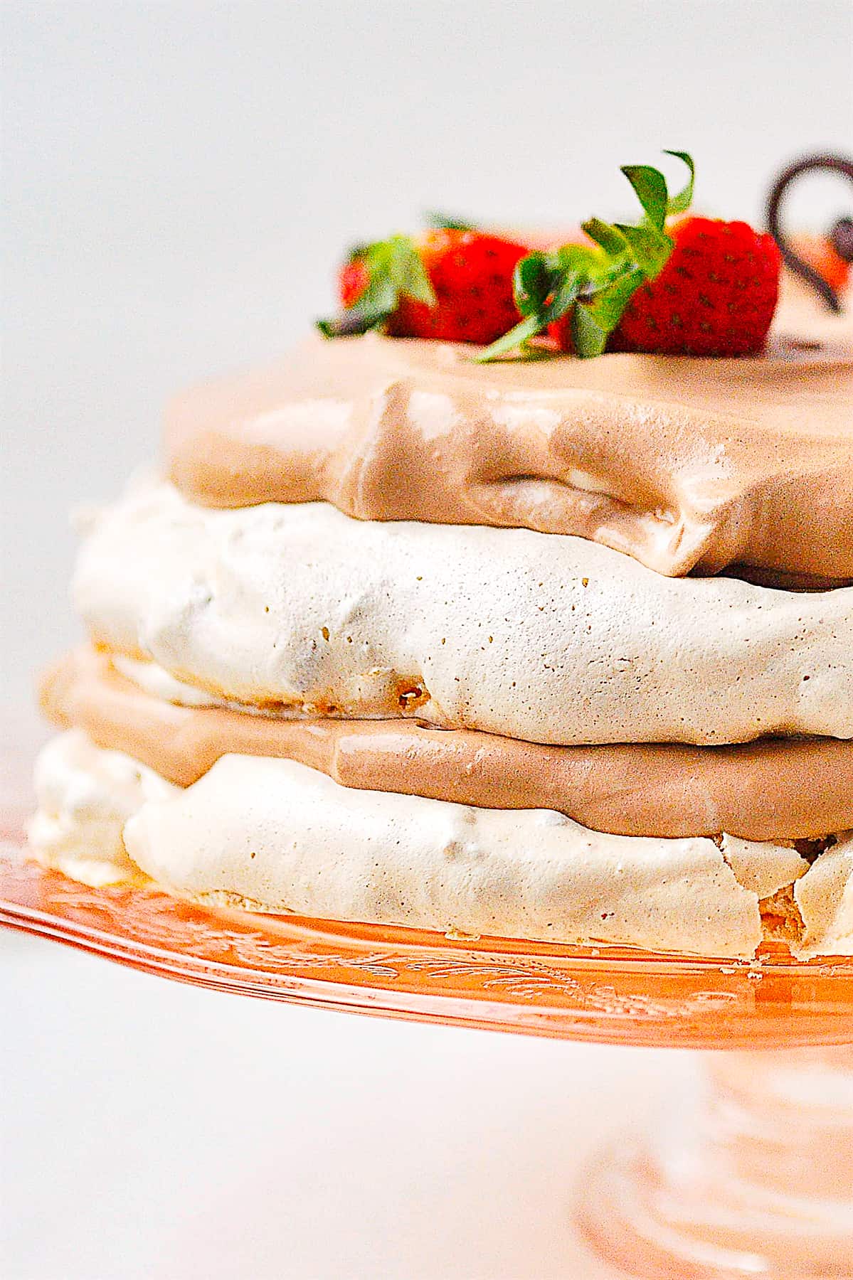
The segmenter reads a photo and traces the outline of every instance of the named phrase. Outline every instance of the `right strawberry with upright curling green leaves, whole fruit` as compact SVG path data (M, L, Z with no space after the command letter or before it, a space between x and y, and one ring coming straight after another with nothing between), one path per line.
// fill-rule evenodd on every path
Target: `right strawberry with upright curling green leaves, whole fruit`
M521 259L515 300L523 320L475 358L505 356L547 332L551 346L580 357L603 351L743 356L763 346L776 307L781 255L770 236L745 223L684 218L689 180L670 196L648 165L622 173L643 206L635 225L592 218L587 244L564 244Z

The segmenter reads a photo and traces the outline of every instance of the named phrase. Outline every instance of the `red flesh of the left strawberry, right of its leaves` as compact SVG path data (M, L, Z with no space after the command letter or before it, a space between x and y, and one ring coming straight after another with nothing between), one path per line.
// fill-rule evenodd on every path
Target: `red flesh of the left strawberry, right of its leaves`
M397 337L489 343L519 320L512 273L525 244L476 230L428 232L420 256L435 306L401 297L389 332Z

